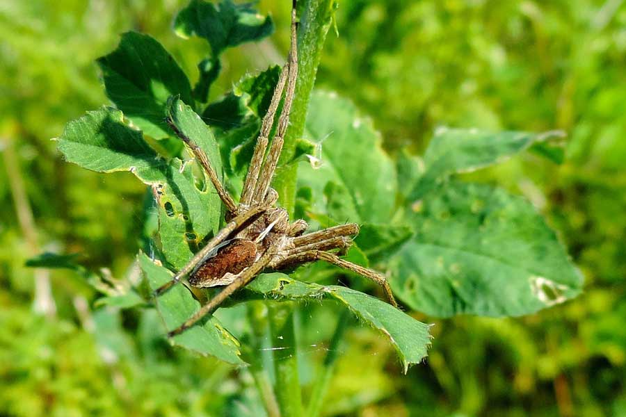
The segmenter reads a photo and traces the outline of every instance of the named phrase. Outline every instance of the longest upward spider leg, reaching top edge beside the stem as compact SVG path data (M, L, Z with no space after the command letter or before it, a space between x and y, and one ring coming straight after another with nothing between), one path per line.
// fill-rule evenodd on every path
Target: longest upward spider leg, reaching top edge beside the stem
M284 104L282 106L282 112L278 118L278 129L276 129L276 135L272 140L272 145L263 164L262 171L260 172L259 181L252 195L252 202L263 201L268 191L272 177L278 164L278 158L280 152L282 152L282 145L284 142L284 134L287 132L287 126L289 126L289 113L291 112L291 104L294 102L294 93L296 92L296 81L298 79L298 38L296 35L296 28L298 24L296 22L296 1L294 1L294 7L291 9L291 49L289 51L288 66L289 74L287 81L287 91L284 95Z

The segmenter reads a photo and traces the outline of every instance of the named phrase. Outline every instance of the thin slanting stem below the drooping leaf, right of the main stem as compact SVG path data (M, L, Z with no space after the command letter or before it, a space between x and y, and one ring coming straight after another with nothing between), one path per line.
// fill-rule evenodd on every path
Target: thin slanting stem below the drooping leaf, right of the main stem
M322 368L313 384L313 392L311 393L311 400L309 402L309 407L307 408L308 417L317 417L320 414L323 401L326 398L326 393L328 393L328 388L330 387L330 379L332 378L332 373L335 370L335 363L339 357L339 345L341 344L344 334L346 333L346 327L348 327L349 317L350 313L348 310L344 310L342 315L339 316L335 334L332 335L330 345L328 345L328 353L326 354Z

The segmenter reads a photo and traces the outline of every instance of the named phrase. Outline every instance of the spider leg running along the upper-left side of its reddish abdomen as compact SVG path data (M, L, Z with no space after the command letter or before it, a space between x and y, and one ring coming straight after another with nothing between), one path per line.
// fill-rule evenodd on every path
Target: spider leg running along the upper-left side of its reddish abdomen
M174 277L172 277L171 281L157 288L157 291L154 291L154 295L161 295L165 291L168 291L168 289L172 288L172 286L179 283L182 277L191 272L191 270L195 268L195 265L198 265L198 263L201 262L204 257L211 252L211 250L214 250L215 247L217 247L228 236L230 236L232 232L236 231L236 229L239 229L243 224L246 224L250 219L255 218L258 215L261 215L262 213L267 211L267 209L276 202L277 197L278 195L272 193L263 205L254 206L249 210L244 211L240 215L232 218L232 220L230 220L230 222L228 222L226 226L223 227L223 229L218 231L218 234L216 234L211 240L209 240L209 243L207 243L207 245L205 245L202 250L198 251L198 253L196 253L193 258L188 261L188 263L184 265L184 267L179 270L177 274L174 275Z

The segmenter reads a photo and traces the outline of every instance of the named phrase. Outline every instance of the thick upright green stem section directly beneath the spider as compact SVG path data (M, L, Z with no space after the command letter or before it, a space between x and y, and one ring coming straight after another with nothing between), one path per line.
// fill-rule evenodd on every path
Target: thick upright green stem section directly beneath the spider
M302 416L294 306L290 302L273 302L268 303L268 309L276 377L274 391L280 414L282 417Z

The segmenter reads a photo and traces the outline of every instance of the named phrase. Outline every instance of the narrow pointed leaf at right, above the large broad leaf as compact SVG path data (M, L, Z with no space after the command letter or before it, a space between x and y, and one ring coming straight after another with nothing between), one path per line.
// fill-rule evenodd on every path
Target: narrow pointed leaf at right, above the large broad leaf
M533 143L561 138L560 131L491 133L477 129L440 127L424 154L424 175L417 181L409 199L415 201L446 181L456 172L471 172L500 163L528 149Z

